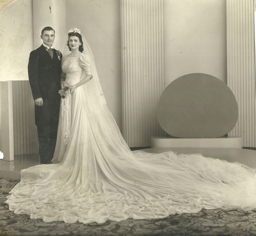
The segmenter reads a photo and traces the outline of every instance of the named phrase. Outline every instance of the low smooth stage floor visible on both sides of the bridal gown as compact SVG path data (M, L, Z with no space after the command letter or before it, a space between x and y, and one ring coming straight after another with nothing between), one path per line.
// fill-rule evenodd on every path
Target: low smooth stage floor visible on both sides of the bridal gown
M251 168L256 169L256 150L242 148L147 148L142 149L145 152L161 153L173 151L177 154L181 153L201 153L206 157L213 157L228 162L240 162ZM3 161L0 159L0 178L20 179L22 169L30 166L39 165L39 155L16 155L14 161Z

